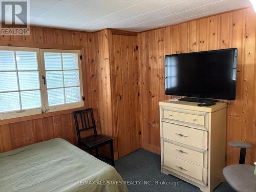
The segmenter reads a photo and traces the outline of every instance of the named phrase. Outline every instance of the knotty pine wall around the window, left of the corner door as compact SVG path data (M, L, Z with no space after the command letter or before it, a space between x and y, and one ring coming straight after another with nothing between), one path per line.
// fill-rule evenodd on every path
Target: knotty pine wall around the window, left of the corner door
M31 27L29 36L1 36L0 41L63 46L81 46L83 92L85 107L93 107L98 133L115 135L109 82L109 50L106 31L99 33L77 32L52 28ZM53 138L64 138L77 144L73 113L3 124L0 121L0 153L28 144ZM92 135L91 130L84 136ZM116 137L115 137L116 138ZM117 141L115 139L115 146ZM117 152L117 147L115 147ZM116 154L115 154L116 155ZM118 157L118 155L116 155Z

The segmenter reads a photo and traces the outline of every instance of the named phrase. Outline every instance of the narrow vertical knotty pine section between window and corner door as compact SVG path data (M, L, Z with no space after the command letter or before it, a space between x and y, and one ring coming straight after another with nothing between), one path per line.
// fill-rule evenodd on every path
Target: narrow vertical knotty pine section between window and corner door
M88 34L89 66L91 79L92 101L97 108L98 122L102 134L111 135L114 138L114 156L118 158L117 129L115 109L113 103L113 89L111 78L111 39L110 30L102 30ZM110 150L106 147L106 150Z

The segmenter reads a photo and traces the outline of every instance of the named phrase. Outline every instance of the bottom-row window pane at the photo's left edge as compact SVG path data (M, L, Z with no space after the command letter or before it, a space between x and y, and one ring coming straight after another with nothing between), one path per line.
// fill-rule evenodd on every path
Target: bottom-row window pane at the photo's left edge
M19 109L18 92L0 93L0 113Z

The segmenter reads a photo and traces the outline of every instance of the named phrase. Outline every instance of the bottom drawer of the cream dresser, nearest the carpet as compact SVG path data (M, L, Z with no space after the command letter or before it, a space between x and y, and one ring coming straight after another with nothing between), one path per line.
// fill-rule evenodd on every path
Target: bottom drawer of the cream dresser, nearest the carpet
M199 181L206 181L207 168L201 167L199 165L187 162L168 154L163 155L163 165L175 169L178 172L193 177Z

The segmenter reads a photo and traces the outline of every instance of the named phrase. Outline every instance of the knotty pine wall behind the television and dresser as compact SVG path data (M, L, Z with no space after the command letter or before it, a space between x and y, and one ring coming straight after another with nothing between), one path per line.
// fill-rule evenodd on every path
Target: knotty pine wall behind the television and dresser
M238 163L239 149L229 141L252 143L246 163L256 159L256 14L243 9L139 34L142 147L160 153L158 101L164 94L166 54L238 48L237 98L228 101L226 164Z

